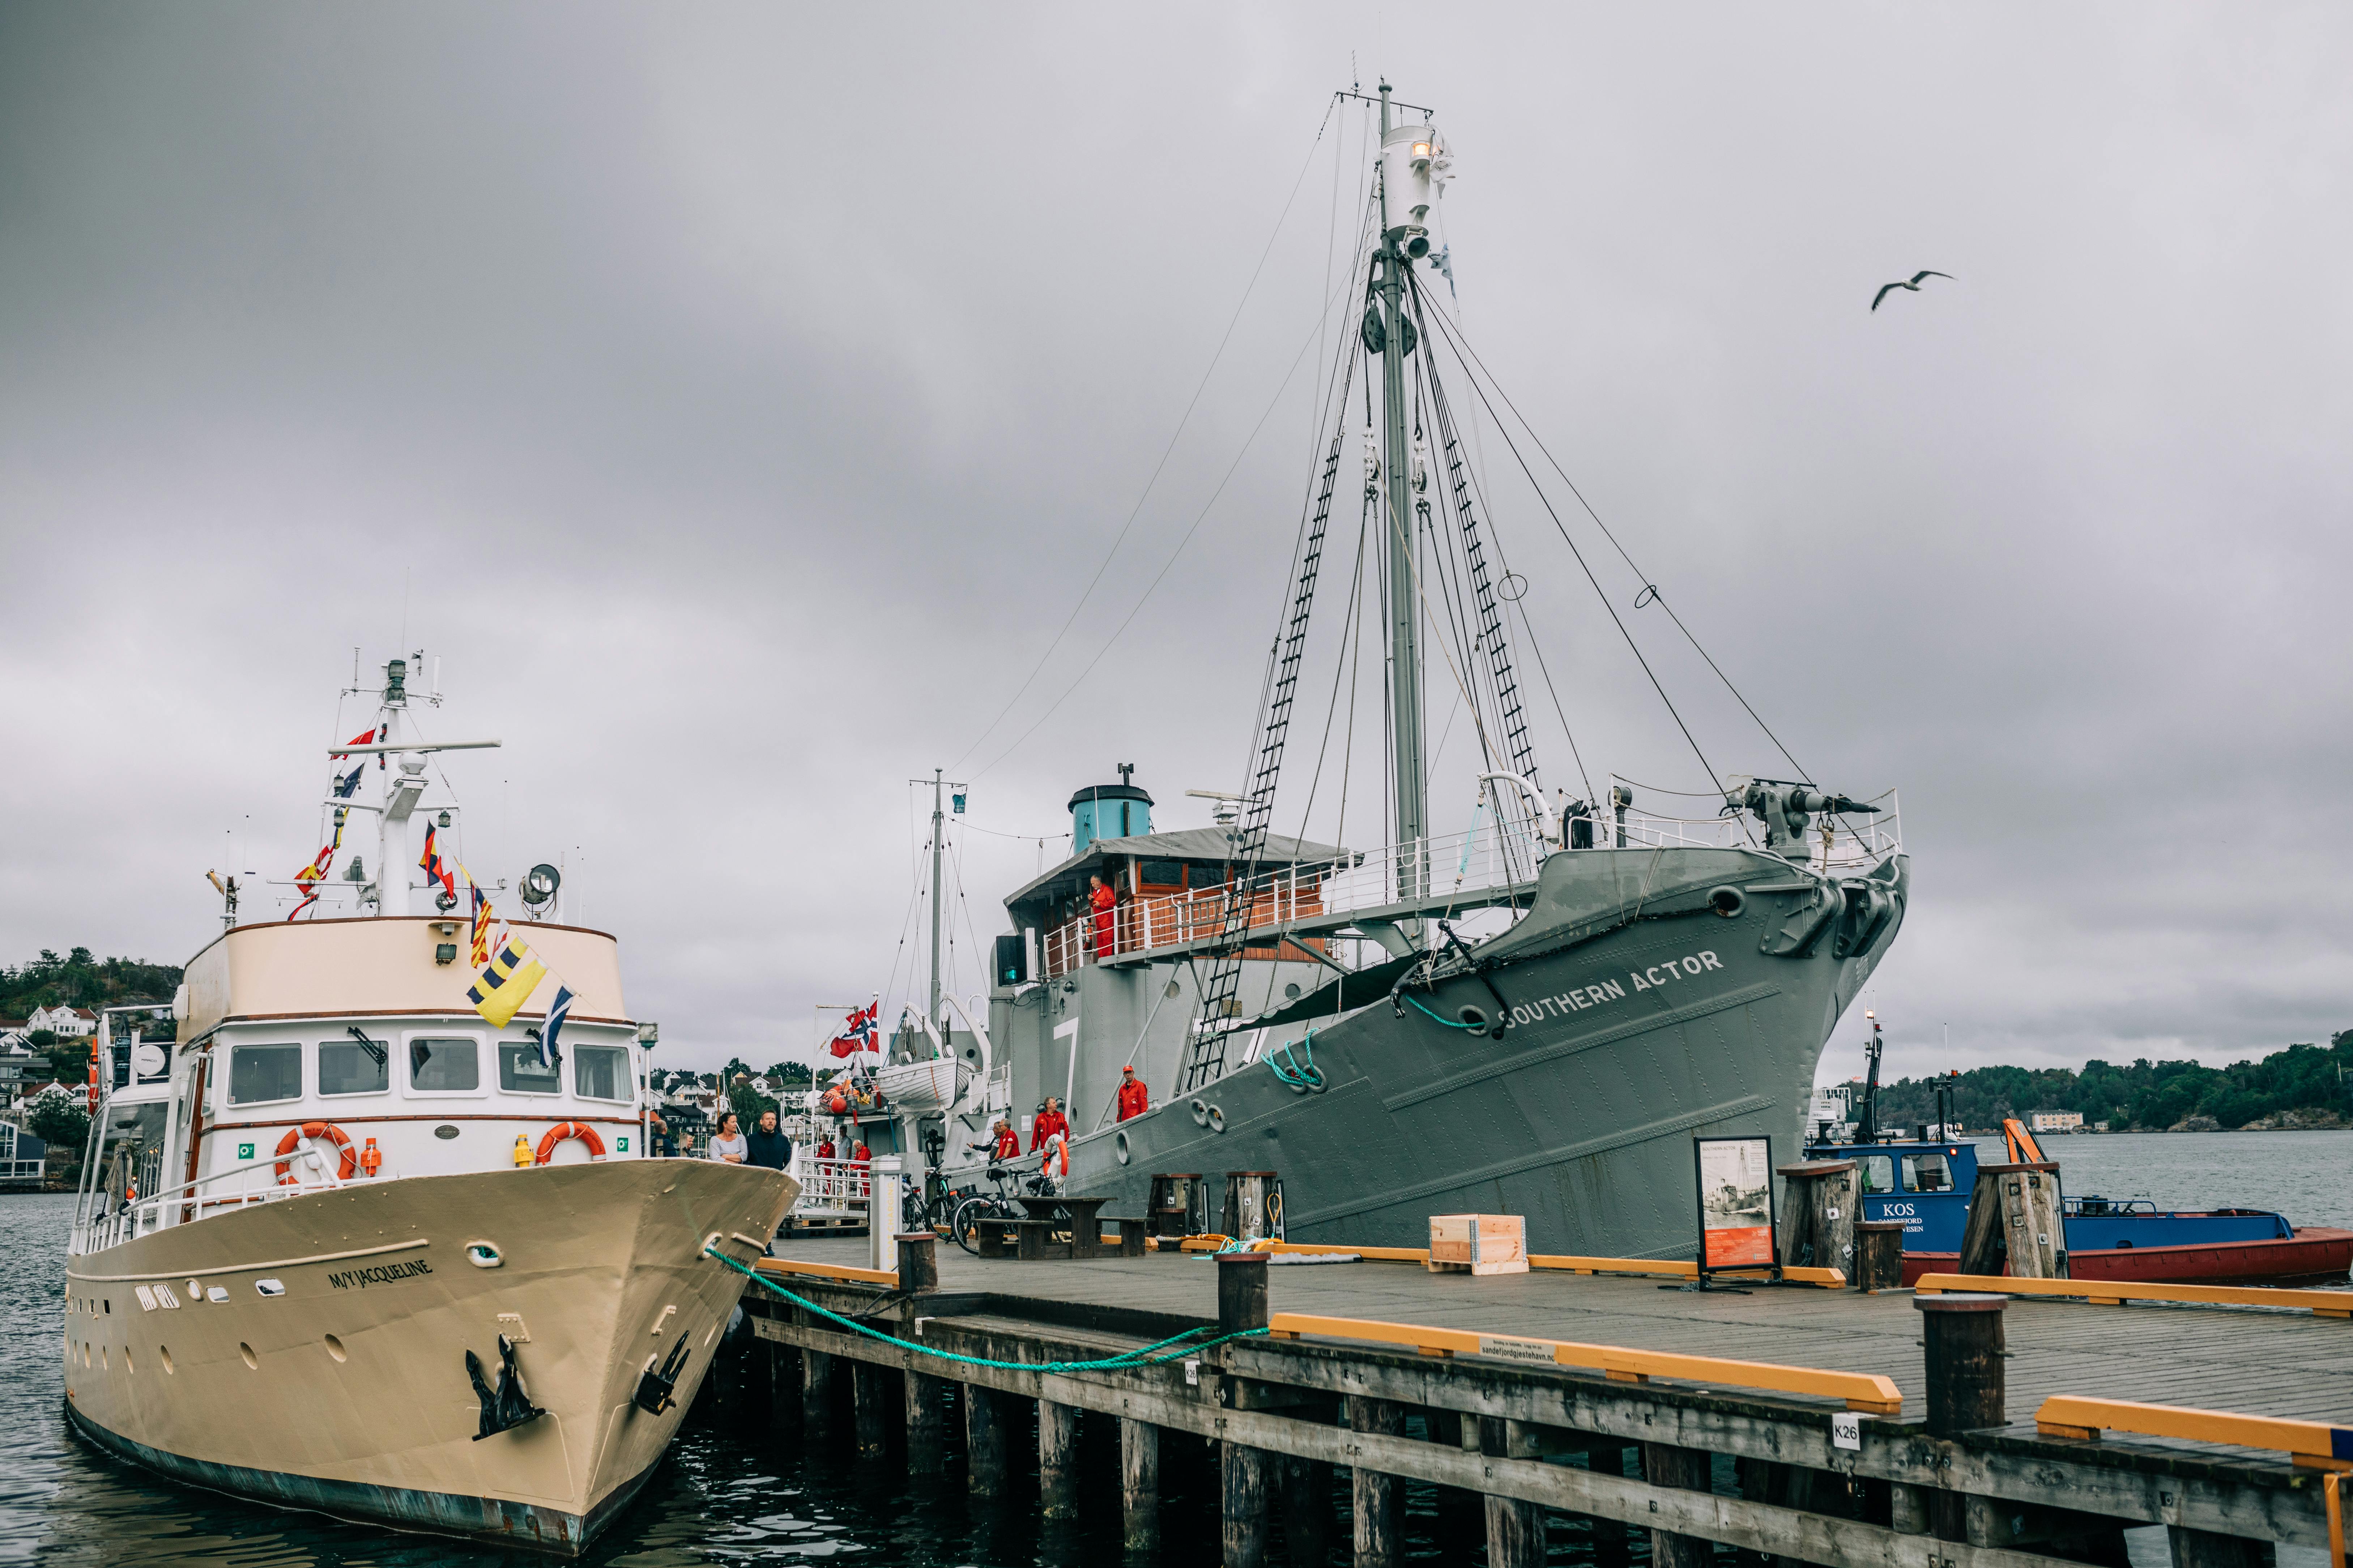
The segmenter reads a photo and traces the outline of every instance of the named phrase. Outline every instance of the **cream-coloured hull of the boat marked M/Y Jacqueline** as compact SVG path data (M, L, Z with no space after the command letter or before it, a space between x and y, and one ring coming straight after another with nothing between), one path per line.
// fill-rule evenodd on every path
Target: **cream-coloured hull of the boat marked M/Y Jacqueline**
M66 1408L200 1486L579 1552L661 1460L744 1291L706 1239L751 1258L795 1194L781 1171L614 1159L355 1182L162 1229L68 1267ZM475 1241L499 1267L468 1260ZM158 1284L179 1307L141 1305ZM546 1415L475 1441L466 1352L496 1382L501 1331ZM652 1415L631 1396L680 1333L678 1403Z

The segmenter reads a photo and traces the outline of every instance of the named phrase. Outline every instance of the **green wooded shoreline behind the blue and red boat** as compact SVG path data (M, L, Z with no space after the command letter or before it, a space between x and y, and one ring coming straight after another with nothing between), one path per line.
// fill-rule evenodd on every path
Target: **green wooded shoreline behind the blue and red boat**
M2339 1077L2339 1067L2346 1077ZM1880 1124L1934 1121L1939 1086L1953 1093L1953 1117L1974 1128L2038 1110L2073 1110L2087 1124L2106 1121L2113 1128L2167 1128L2191 1117L2247 1126L2280 1112L2337 1112L2353 1119L2353 1030L2334 1034L2327 1046L2287 1046L2259 1063L2228 1067L2141 1058L2129 1067L2089 1060L2080 1072L1972 1067L1941 1079L1899 1079L1880 1084Z

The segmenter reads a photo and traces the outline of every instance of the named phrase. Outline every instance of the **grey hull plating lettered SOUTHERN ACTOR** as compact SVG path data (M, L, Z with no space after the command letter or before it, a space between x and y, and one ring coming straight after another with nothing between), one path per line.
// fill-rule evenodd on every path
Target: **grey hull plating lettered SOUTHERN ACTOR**
M1798 1157L1814 1065L1897 936L1908 865L1894 856L1868 882L1892 905L1875 931L1831 917L1793 943L1826 893L1786 860L1553 856L1529 914L1480 950L1485 978L1419 994L1447 1020L1464 1006L1492 1020L1501 994L1501 1039L1362 1009L1313 1034L1322 1091L1294 1091L1261 1056L1080 1138L1073 1190L1141 1213L1158 1171L1280 1171L1301 1241L1426 1246L1428 1215L1480 1211L1525 1215L1534 1251L1689 1258L1692 1135L1767 1133L1777 1159ZM1741 898L1711 900L1722 886ZM1271 1030L1264 1051L1304 1034Z

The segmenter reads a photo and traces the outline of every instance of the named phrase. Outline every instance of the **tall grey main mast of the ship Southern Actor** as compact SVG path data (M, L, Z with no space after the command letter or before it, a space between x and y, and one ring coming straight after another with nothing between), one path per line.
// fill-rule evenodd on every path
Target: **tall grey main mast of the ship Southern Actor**
M1388 82L1381 82L1381 148L1388 150ZM1402 200L1402 195L1400 195ZM1400 252L1407 233L1417 233L1407 214L1391 209L1388 158L1381 158L1381 416L1388 468L1388 710L1398 748L1398 898L1412 900L1426 891L1421 839L1428 832L1426 778L1421 764L1421 646L1419 646L1419 571L1414 559L1414 475L1405 433L1405 268Z

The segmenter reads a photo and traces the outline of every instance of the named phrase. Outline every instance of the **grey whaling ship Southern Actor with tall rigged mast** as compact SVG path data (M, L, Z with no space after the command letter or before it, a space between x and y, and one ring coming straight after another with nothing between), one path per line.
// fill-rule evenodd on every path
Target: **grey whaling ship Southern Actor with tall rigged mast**
M901 1150L972 1185L991 1121L1026 1128L1056 1095L1068 1185L1113 1213L1141 1213L1153 1173L1259 1168L1282 1175L1292 1239L1421 1244L1431 1213L1487 1211L1527 1215L1537 1251L1692 1255L1694 1133L1800 1154L1814 1063L1904 919L1894 797L1734 778L1697 820L1640 813L1617 783L1546 799L1511 578L1487 567L1438 376L1459 329L1414 273L1449 160L1435 127L1391 125L1391 108L1384 85L1365 315L1332 364L1247 788L1217 825L1174 832L1153 832L1125 771L1073 797L1073 856L1005 900L986 1023L948 999L967 1013L951 1030L936 983L932 1016L911 1009L885 1067L927 1086L901 1105ZM1377 851L1268 832L1351 423L1388 642ZM1452 837L1431 837L1424 776L1433 635L1452 635L1445 677L1482 752L1480 816ZM1094 877L1115 910L1087 903ZM1113 1121L1129 1063L1151 1110Z

